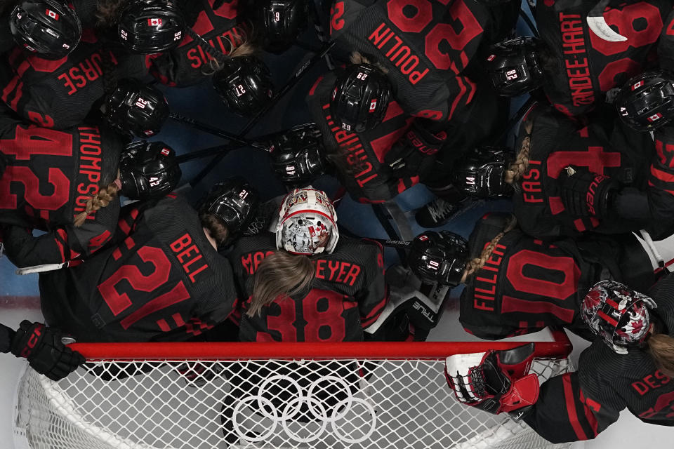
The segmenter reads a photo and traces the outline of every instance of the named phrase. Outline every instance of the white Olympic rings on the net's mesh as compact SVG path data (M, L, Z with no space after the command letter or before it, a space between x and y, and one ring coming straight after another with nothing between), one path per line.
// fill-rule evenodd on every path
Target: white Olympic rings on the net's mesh
M284 406L282 406L282 410L280 410L280 412L276 406L274 406L272 401L265 398L263 395L267 387L269 387L272 382L279 380L290 382L297 391L297 395L285 403ZM326 410L322 401L314 397L314 391L321 382L336 382L337 384L340 384L341 387L343 387L347 394L346 398L338 401L338 403L335 404L332 409L333 413L331 417L328 416L328 410ZM255 402L257 403L257 407L252 405L252 403ZM309 412L314 415L317 420L320 420L321 427L315 434L303 438L289 429L288 422L298 417L302 405L305 402L307 403ZM251 406L249 406L249 404L251 404ZM360 404L363 406L370 415L369 429L368 431L363 432L363 436L360 438L351 438L350 436L345 435L343 431L336 425L337 420L342 420L343 418L347 417L350 412L352 412L352 408L355 404ZM237 417L242 413L244 406L249 406L249 408L251 408L256 413L272 420L273 424L265 434L251 436L251 434L246 434L246 429L241 428L242 426L237 421ZM269 410L271 410L271 412ZM330 423L333 434L338 440L343 441L344 443L354 444L362 443L363 441L366 441L368 438L370 438L374 432L374 429L376 428L377 417L374 407L364 399L354 397L348 384L341 377L337 376L322 376L315 380L312 382L312 384L310 384L305 396L303 394L302 387L300 387L300 384L292 377L286 375L274 375L260 384L258 394L239 399L237 405L234 406L234 412L232 413L232 424L234 431L237 433L239 438L242 438L249 443L266 441L271 438L274 435L279 422L282 424L286 435L291 438L291 440L298 441L299 443L309 443L310 441L320 438L326 430L328 423Z

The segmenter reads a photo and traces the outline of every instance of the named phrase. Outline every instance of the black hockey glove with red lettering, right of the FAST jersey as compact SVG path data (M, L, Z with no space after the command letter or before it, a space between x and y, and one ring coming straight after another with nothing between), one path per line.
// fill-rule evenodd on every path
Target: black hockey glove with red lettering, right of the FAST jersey
M575 166L562 170L558 179L564 208L574 217L606 217L614 194L620 189L619 183L610 177Z

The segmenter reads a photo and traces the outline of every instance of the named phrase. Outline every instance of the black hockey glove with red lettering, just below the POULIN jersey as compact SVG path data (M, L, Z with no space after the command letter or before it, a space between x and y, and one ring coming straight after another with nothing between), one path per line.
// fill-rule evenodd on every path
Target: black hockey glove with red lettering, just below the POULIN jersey
M384 156L384 162L395 177L423 177L435 162L446 135L432 134L420 128L416 122L407 130Z

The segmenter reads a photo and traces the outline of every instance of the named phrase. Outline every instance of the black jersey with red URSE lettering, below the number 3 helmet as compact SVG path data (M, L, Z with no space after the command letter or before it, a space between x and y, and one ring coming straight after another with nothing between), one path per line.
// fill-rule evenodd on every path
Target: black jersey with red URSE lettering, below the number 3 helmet
M46 128L77 126L105 93L114 90L117 79L147 74L143 55L128 53L111 34L114 21L107 1L75 3L84 25L69 54L43 58L16 47L0 61L2 100L23 119Z

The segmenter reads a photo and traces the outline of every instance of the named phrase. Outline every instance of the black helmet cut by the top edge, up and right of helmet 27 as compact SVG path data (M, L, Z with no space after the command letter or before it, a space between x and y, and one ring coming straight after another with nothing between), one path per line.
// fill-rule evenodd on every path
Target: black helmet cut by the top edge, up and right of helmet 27
M253 0L251 17L260 44L272 53L283 53L297 40L309 22L307 0Z

